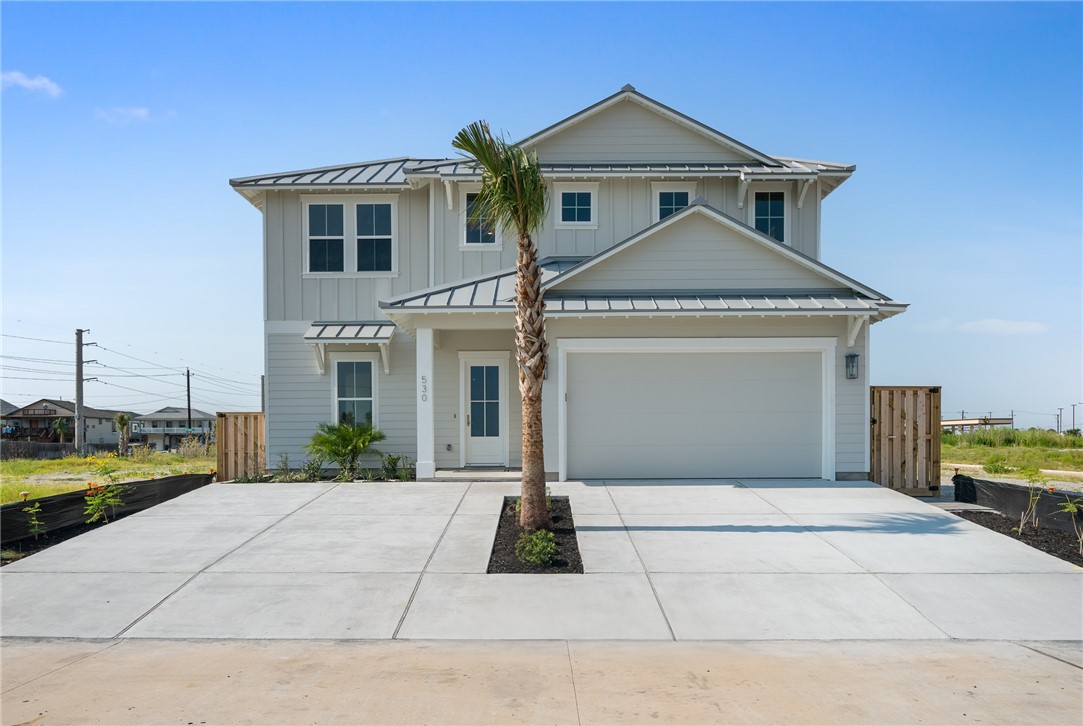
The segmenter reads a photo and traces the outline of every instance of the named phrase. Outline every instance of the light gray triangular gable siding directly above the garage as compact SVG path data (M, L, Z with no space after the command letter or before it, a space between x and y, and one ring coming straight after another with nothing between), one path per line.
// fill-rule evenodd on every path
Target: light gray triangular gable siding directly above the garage
M838 287L747 235L692 215L573 273L559 290Z

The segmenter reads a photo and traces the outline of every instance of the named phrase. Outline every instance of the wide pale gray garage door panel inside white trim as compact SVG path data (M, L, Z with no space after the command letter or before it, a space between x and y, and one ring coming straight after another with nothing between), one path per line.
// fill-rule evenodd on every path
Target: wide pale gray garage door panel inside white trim
M822 474L818 352L567 355L567 476Z

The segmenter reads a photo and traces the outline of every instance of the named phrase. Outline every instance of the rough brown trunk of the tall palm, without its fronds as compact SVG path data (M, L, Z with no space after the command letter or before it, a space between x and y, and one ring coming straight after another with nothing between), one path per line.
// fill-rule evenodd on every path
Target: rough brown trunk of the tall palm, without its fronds
M537 249L529 235L519 237L516 261L516 359L523 399L523 481L519 526L552 529L545 502L545 446L542 438L542 384L548 362L545 303Z

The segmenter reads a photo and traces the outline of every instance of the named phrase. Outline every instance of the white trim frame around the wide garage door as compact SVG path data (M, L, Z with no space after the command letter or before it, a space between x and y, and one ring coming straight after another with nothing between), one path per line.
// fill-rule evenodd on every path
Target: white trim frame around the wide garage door
M835 479L836 338L560 338L557 340L558 476L567 479L567 358L583 353L820 353L821 471Z

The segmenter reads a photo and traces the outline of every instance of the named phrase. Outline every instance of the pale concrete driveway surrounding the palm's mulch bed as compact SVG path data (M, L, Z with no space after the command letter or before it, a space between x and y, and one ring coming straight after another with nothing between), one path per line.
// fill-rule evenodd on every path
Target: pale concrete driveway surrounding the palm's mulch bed
M561 482L583 575L486 575L518 484L212 484L3 568L3 635L1081 640L1083 572L869 482Z

